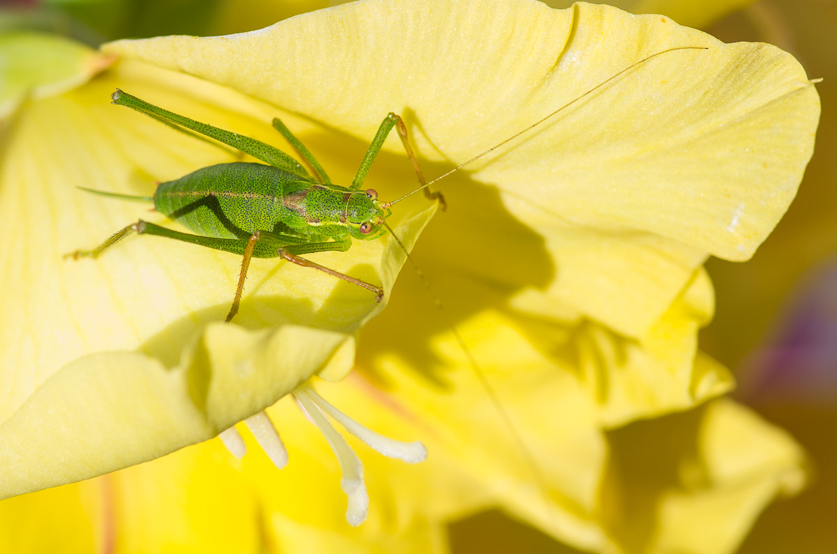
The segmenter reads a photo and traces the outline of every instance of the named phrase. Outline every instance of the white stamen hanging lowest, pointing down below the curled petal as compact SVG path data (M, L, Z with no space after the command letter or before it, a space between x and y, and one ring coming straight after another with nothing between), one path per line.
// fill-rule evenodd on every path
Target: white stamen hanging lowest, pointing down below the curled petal
M340 480L340 488L346 493L349 500L346 509L346 521L351 526L359 526L366 519L369 508L369 496L367 495L366 485L363 484L363 465L352 447L346 442L346 439L343 439L342 435L337 433L306 392L311 392L311 390L306 391L302 387L297 388L294 391L294 397L300 403L300 407L308 414L308 417L311 418L311 421L326 437L331 451L336 455L343 474Z

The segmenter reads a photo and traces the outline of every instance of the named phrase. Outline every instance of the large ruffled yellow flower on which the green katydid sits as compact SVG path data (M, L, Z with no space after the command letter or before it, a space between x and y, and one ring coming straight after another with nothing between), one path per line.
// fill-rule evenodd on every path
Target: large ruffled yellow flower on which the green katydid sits
M692 49L633 65L679 47ZM88 530L74 535L80 551L444 551L444 522L494 505L583 549L730 551L765 502L804 482L793 442L734 403L644 423L639 451L636 427L619 428L732 386L696 348L713 310L701 265L747 259L796 192L819 102L788 54L660 16L511 1L367 2L103 51L121 60L25 102L8 126L0 209L7 236L27 231L25 247L3 247L0 301L19 321L0 331L5 495L208 439L312 375L352 367L320 384L324 396L379 432L421 438L430 458L364 456L372 509L351 530L325 442L283 401L270 409L290 454L281 472L213 441L39 493L85 506L67 515ZM407 275L393 291L394 241L316 258L383 282L385 310L264 260L236 325L217 323L238 274L227 254L135 238L95 262L61 259L141 215L74 186L147 194L151 181L232 159L106 105L117 86L272 143L266 122L280 115L336 182L351 181L389 110L434 175L581 97L440 182L449 211L417 242L526 452L422 285ZM382 197L415 187L397 140L382 158L369 179ZM419 199L398 208L411 244L431 213ZM659 453L655 439L667 441ZM34 498L0 504L18 550L46 540L11 531Z

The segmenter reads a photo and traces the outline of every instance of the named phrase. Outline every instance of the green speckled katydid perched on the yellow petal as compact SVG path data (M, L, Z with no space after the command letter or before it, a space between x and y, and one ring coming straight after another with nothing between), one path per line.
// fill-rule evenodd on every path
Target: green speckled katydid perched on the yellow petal
M313 176L300 162L262 141L163 110L118 89L111 95L111 100L158 121L213 138L264 163L231 162L203 167L174 181L160 183L152 197L85 189L109 197L153 202L157 212L182 223L196 234L181 233L140 219L95 249L76 250L68 256L95 258L130 233L157 235L242 255L239 284L226 321L231 321L238 313L244 280L253 257L280 257L319 269L372 291L378 301L383 298L380 286L326 268L301 255L344 252L352 246L352 239L377 239L386 233L386 218L392 213L390 206L403 197L385 203L378 200L375 190L362 190L361 187L393 127L398 130L422 185L413 192L424 190L428 197L437 199L444 206L438 192L427 192L429 189L409 145L407 127L401 117L393 113L387 115L378 128L352 186L341 187L331 182L311 151L279 119L274 119L273 126L305 160Z

